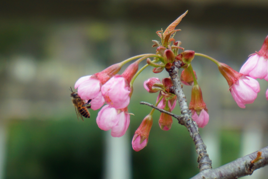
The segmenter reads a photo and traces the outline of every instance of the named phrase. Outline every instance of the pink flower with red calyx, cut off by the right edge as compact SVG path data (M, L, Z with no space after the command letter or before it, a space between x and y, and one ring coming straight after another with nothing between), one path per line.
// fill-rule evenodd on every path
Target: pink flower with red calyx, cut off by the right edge
M268 59L268 36L265 38L261 50L252 54L241 67L240 73L250 76L251 78L260 78L268 81L267 72L267 59Z

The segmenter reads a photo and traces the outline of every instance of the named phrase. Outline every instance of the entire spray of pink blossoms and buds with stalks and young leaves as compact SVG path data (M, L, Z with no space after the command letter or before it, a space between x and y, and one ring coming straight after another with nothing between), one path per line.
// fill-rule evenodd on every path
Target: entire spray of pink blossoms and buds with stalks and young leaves
M133 81L147 66L152 66L154 73L160 73L164 69L169 71L175 63L180 63L183 71L180 75L180 81L183 85L192 86L191 102L189 110L192 119L201 128L205 127L209 121L208 109L203 101L202 91L197 83L197 75L191 65L195 55L203 56L217 64L219 71L227 80L229 90L239 107L245 108L245 104L251 104L260 92L260 86L256 78L268 81L268 36L259 52L256 52L243 65L240 72L236 72L226 64L220 63L207 55L195 53L192 50L184 50L180 47L181 42L175 41L173 38L175 27L180 23L182 18L187 14L184 13L175 20L169 27L163 31L157 31L157 35L161 38L161 42L153 40L153 47L157 47L156 54L144 54L132 57L121 63L114 64L102 72L94 75L81 77L75 84L75 89L82 100L90 101L91 109L97 110L106 104L99 111L96 122L100 129L110 130L113 137L121 137L125 134L130 124L130 113L127 106L133 93ZM181 53L179 51L182 50ZM128 61L140 58L130 64L121 74L117 74L121 67ZM153 58L151 60L150 58ZM147 59L147 65L138 71L139 63ZM144 82L144 88L149 93L159 92L156 100L156 106L171 112L177 102L177 96L174 94L174 87L170 78L149 78ZM266 92L268 100L268 90ZM147 115L141 125L135 131L132 146L135 151L143 149L149 138L149 132L152 127L152 114L155 109ZM172 126L172 117L166 113L161 113L159 118L159 126L162 130L169 130Z

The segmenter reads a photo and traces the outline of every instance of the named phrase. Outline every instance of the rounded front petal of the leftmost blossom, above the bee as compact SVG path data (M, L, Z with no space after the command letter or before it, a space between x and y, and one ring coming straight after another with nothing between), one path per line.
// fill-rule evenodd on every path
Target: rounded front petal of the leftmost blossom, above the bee
M100 91L100 82L95 78L90 78L88 81L81 83L77 89L77 93L83 100L95 98Z

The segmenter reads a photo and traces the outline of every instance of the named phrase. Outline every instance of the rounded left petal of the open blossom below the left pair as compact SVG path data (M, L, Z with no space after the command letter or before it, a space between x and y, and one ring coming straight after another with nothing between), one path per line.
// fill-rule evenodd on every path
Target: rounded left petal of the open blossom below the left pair
M109 107L109 105L102 107L96 118L96 122L99 128L105 131L110 130L112 127L116 126L118 121L119 118L117 117L116 109Z

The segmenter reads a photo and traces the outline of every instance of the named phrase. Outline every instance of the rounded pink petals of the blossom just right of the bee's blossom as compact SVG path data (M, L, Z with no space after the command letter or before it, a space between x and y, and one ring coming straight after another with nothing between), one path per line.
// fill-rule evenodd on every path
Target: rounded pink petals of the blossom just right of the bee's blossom
M112 77L102 85L101 92L107 104L116 109L123 109L130 102L130 87L124 77Z

